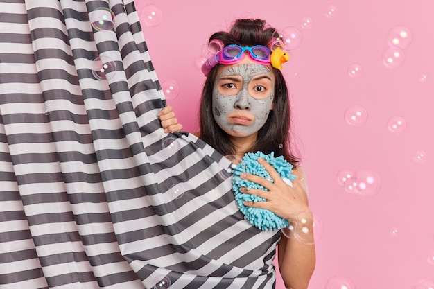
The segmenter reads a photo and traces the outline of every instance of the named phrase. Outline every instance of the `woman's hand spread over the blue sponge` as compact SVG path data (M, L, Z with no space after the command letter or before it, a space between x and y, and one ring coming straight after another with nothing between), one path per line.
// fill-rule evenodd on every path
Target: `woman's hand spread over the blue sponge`
M307 195L300 182L300 177L295 179L293 186L291 187L281 179L279 173L277 173L277 171L270 166L267 161L261 157L257 160L270 174L274 183L257 175L242 173L240 175L242 179L247 179L250 182L257 183L268 189L268 191L264 191L261 189L247 190L245 187L240 188L241 193L258 195L259 197L266 199L265 202L244 202L245 206L268 209L274 212L277 216L285 219L292 218L295 213L300 211L310 211Z

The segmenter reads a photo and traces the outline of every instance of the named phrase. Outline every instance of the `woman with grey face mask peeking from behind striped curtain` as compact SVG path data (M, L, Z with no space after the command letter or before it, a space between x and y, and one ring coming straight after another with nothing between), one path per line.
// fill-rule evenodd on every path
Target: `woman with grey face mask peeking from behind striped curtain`
M211 35L209 44L220 46L220 51L202 67L207 80L200 103L200 132L194 134L222 155L242 158L246 152L257 151L274 152L276 157L282 155L293 164L293 174L297 175L292 186L284 182L270 164L258 159L274 182L242 174L242 178L268 189L241 188L243 193L266 199L265 202L245 202L245 205L269 209L289 220L302 212L304 222L313 224L304 173L298 166L299 159L291 151L286 82L270 60L278 42L276 30L266 27L266 22L259 19L238 19L228 33ZM165 107L159 117L166 132L182 130L172 107ZM276 234L281 232L276 231ZM312 230L306 234L306 238L313 240ZM314 245L281 234L277 246L279 270L285 286L308 288L315 268Z

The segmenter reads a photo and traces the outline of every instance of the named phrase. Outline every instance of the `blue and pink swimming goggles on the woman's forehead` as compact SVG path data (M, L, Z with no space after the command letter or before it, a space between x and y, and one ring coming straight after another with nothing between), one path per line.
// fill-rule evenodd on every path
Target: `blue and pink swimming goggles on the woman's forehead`
M208 76L209 71L217 64L231 65L241 62L244 59L244 53L248 51L248 56L254 62L262 65L270 65L270 55L271 51L266 46L255 45L249 46L239 46L236 44L230 44L225 46L222 50L218 51L215 55L211 56L207 61L202 64L202 72L205 76Z

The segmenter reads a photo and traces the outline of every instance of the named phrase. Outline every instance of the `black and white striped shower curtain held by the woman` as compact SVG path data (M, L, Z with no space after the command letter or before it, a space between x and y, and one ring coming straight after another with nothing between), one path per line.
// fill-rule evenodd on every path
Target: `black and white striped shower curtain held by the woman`
M134 1L0 0L1 288L274 287L279 233L162 107Z

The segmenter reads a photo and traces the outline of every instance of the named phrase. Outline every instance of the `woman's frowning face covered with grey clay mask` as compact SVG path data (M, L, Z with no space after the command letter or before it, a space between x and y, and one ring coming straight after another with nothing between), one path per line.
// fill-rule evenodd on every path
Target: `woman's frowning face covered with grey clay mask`
M214 119L232 137L256 134L272 110L274 76L264 65L244 58L220 65L212 95Z

